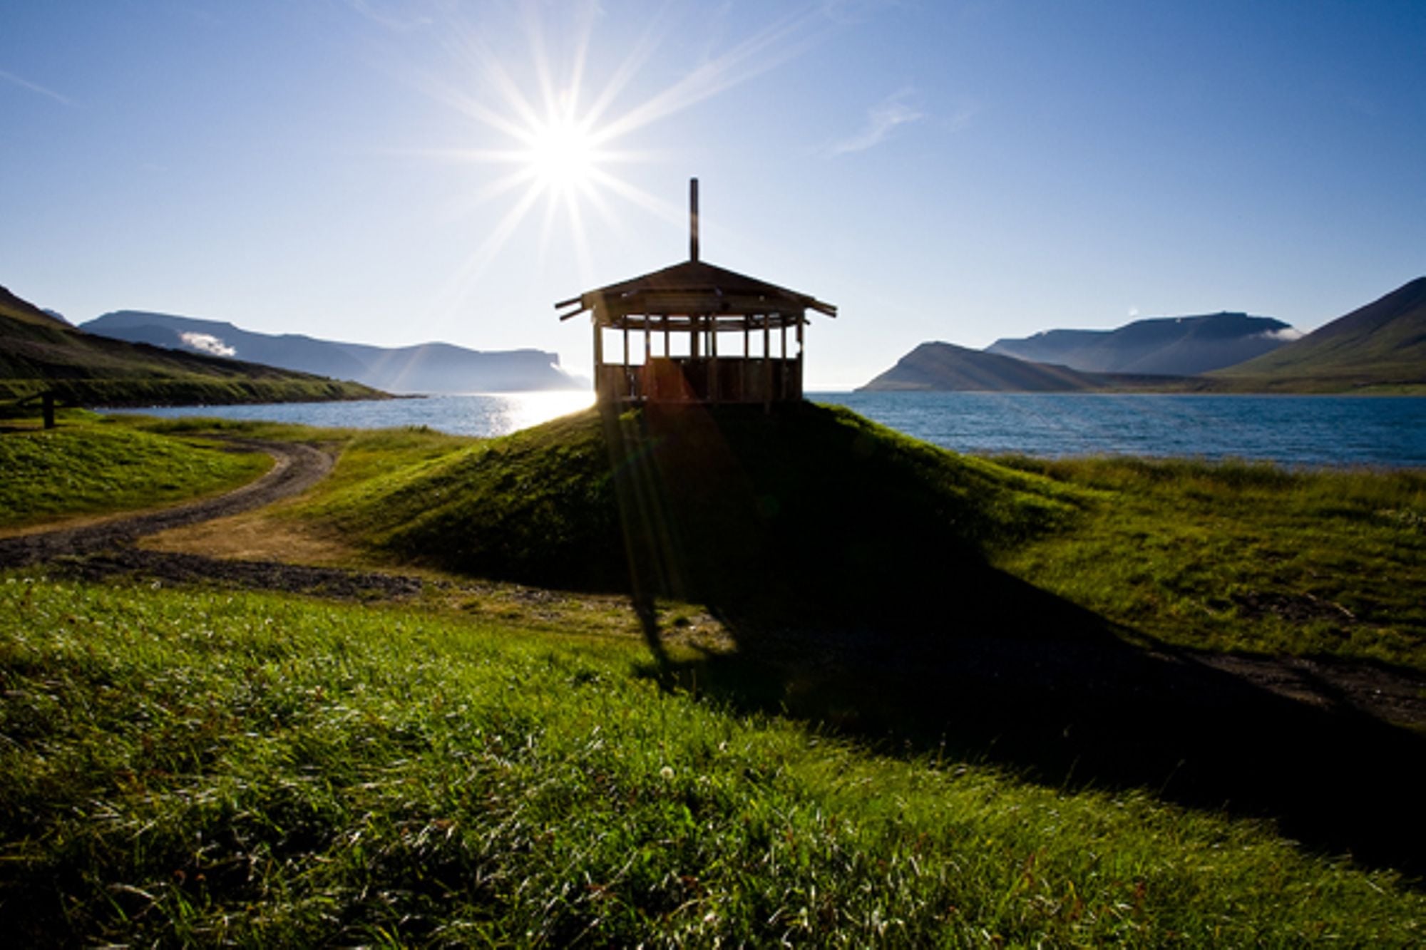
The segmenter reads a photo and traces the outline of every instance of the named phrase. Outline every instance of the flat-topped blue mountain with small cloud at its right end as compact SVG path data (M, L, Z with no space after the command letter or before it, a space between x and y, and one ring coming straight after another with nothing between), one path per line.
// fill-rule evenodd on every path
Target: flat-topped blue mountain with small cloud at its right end
M1194 377L1261 357L1298 335L1281 320L1224 312L1137 320L1118 330L1051 330L997 339L985 352L1082 372Z

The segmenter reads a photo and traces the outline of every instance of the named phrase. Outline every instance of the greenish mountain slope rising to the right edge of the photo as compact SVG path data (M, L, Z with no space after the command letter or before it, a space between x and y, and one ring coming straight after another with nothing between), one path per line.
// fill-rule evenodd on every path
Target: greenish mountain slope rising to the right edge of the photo
M1426 385L1426 277L1211 378L1268 392Z

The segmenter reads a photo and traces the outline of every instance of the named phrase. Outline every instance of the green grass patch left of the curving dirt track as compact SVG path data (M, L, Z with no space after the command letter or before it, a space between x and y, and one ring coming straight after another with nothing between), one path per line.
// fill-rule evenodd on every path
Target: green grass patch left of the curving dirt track
M258 478L271 464L261 452L68 412L54 429L0 432L0 528L215 494Z

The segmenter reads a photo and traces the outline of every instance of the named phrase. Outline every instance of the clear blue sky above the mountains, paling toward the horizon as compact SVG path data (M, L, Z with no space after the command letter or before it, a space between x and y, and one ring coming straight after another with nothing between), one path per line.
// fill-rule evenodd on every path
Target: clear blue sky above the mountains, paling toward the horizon
M692 175L704 260L840 307L814 388L1426 274L1419 0L0 3L0 282L76 322L588 372L552 304L683 260ZM520 136L570 106L559 178Z

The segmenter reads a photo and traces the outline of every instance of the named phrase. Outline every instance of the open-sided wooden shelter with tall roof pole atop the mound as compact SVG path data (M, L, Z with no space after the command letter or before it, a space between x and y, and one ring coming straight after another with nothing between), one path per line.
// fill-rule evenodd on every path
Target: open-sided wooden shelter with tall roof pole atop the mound
M807 311L836 317L837 308L700 261L697 178L689 183L689 231L687 261L555 304L573 307L560 320L590 314L596 399L801 399Z

